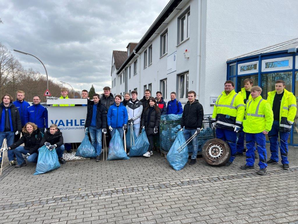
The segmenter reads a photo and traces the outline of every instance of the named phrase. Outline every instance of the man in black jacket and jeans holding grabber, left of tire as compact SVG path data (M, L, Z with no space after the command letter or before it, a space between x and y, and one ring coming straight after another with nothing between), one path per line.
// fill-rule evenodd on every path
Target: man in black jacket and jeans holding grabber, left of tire
M191 90L187 93L188 101L184 105L182 117L180 120L181 131L184 127L184 138L185 141L190 139L193 135L200 134L201 128L203 127L204 110L203 106L199 103L196 98L195 91ZM196 163L198 154L198 138L195 136L191 140L193 144L193 154L191 155L190 165Z

